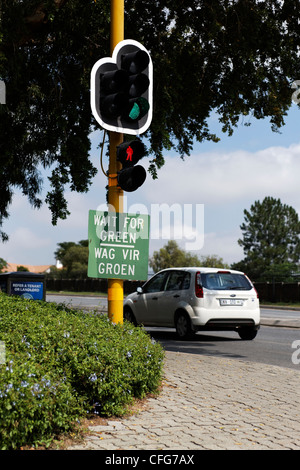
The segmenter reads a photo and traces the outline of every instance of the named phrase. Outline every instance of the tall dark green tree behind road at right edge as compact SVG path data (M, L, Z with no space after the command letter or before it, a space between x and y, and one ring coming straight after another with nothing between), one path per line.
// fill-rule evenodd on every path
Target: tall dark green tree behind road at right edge
M266 197L244 210L241 225L245 259L233 265L247 271L253 280L287 278L300 260L300 221L295 209L280 199Z

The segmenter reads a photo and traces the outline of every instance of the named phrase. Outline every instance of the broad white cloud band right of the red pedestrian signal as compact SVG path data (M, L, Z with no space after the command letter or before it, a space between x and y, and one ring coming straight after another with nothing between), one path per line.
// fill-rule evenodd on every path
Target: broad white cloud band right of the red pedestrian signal
M207 152L185 161L166 157L155 181L146 183L152 202L224 205L238 200L280 197L297 204L300 144L257 152Z

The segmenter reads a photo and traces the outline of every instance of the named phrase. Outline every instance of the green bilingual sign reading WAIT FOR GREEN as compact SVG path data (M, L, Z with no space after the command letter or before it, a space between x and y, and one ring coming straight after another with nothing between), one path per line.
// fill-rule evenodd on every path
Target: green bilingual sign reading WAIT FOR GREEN
M150 216L89 211L88 277L146 280Z

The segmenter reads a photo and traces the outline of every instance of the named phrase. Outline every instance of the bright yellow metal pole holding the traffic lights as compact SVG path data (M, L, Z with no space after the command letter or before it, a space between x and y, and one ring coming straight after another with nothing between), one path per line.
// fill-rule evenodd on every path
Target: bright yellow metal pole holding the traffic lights
M124 0L111 0L110 49L111 55L116 45L124 39ZM123 191L117 185L117 146L123 142L123 134L110 132L108 203L116 212L123 212ZM123 280L108 279L108 317L114 323L123 323Z

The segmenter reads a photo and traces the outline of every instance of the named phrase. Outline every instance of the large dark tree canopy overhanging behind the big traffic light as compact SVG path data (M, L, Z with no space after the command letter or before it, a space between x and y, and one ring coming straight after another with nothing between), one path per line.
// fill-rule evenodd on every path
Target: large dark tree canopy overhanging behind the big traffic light
M40 168L51 169L45 201L55 224L69 213L65 188L88 191L97 171L89 80L96 60L110 55L110 2L2 0L0 9L0 226L15 187L41 206ZM298 0L126 0L125 9L125 37L143 43L154 63L145 134L154 177L164 149L184 157L195 141L218 140L212 111L229 134L240 116L268 116L274 130L284 124L300 76Z

